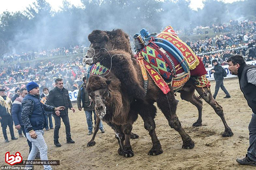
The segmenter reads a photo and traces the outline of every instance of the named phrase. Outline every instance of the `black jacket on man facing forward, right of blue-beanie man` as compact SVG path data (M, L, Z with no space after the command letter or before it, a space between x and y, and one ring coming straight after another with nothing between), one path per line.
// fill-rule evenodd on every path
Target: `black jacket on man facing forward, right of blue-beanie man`
M65 110L60 111L61 115L67 114L68 108L71 109L73 107L68 91L64 87L62 89L54 87L54 89L49 92L47 104L54 107L65 106ZM53 112L53 114L56 115L55 112Z

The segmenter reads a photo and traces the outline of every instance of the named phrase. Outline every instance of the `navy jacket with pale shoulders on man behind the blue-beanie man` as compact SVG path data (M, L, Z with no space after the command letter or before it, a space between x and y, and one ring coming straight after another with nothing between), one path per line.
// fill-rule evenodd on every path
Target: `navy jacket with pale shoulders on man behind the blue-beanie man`
M22 120L21 120L21 103L22 103L23 98L20 96L19 98L16 98L13 102L13 107L12 107L12 117L13 117L13 122L14 125L24 125Z

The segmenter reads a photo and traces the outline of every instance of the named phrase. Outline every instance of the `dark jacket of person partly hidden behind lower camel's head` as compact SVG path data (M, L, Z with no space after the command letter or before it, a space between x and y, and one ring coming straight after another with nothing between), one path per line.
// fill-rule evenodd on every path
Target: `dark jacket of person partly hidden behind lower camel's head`
M82 101L82 105L81 105L81 101ZM78 108L84 108L84 111L94 110L95 104L92 101L90 101L89 94L86 91L86 84L84 83L79 87L76 102L77 102Z

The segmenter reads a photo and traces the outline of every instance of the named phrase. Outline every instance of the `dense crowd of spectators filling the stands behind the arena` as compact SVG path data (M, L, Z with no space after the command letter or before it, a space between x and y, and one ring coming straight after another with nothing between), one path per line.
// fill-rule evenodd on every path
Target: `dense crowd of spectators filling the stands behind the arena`
M220 65L226 65L227 59L239 54L246 61L256 60L256 21L230 21L229 24L209 26L216 33L212 38L206 33L205 39L196 42L187 41L186 44L202 59L205 67L212 67L212 61L217 60ZM196 29L202 29L198 27ZM25 87L29 81L40 85L40 92L44 88L52 90L55 87L54 79L63 78L64 87L68 91L79 89L83 84L82 77L86 72L82 64L82 57L62 63L40 62L35 66L21 66L20 61L29 61L36 58L51 56L67 56L83 52L83 46L60 47L40 52L23 52L4 56L5 64L18 61L14 65L0 66L0 88L7 90L7 95L12 97L16 88Z

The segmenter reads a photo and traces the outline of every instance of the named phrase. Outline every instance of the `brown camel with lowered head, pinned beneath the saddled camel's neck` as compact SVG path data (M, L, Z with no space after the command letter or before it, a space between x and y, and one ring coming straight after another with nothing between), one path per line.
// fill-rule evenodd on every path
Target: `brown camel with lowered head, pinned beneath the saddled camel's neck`
M127 134L131 133L132 124L138 118L138 112L130 110L128 94L121 92L121 82L113 74L106 77L91 76L86 87L95 103L97 120L94 126L94 136L87 146L94 146L94 138L99 130L100 118L115 130L115 137L120 148L119 155L132 157L133 151ZM125 140L125 144L124 144Z

